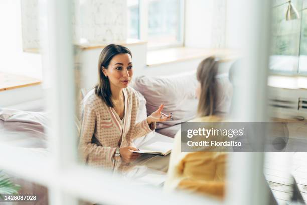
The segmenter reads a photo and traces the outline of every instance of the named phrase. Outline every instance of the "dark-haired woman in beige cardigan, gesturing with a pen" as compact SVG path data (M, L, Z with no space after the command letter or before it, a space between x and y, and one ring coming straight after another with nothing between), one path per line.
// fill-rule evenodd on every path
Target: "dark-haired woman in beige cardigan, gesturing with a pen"
M131 162L139 156L132 152L137 151L132 140L152 132L156 122L171 115L162 115L161 104L147 119L135 122L139 99L128 86L133 76L128 48L106 46L99 56L98 74L98 84L84 99L79 149L86 163L117 169L121 161Z

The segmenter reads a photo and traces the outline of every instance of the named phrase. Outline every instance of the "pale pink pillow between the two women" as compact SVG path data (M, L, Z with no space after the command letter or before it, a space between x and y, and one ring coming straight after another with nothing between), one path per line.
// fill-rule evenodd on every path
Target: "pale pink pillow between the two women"
M157 123L157 129L191 120L196 115L198 100L195 96L195 72L170 77L140 76L135 79L133 87L145 97L147 115L156 111L161 103L164 104L164 113L173 114L174 120Z

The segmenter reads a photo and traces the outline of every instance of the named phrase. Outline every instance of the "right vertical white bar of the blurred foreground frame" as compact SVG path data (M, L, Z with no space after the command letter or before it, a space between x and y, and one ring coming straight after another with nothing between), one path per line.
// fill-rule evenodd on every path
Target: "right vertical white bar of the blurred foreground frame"
M234 119L266 121L270 1L233 0L227 4L227 47L243 54L240 95L234 99ZM263 152L230 155L227 199L231 204L267 204Z

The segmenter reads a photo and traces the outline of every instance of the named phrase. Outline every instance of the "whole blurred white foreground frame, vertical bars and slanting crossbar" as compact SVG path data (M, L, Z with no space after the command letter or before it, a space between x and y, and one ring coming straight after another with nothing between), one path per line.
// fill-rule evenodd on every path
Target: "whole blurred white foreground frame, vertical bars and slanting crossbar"
M78 163L76 132L74 132L75 87L69 15L71 1L54 0L44 3L48 5L46 12L49 24L49 41L45 52L49 57L47 64L49 68L52 68L53 79L52 87L48 90L48 106L53 111L52 129L48 131L52 142L52 153L46 159L29 149L0 143L0 156L3 156L0 158L0 168L47 186L51 205L77 204L79 198L119 205L222 204L219 201L192 194L166 194L160 189L140 185L133 185L131 188L132 181L122 180L119 175L112 175L105 170L82 166ZM239 18L239 23L236 23L240 25L240 28L233 28L228 31L231 33L228 35L238 34L238 30L239 33L240 31L244 33L245 26L258 25L248 29L247 37L237 37L243 51L250 51L247 60L252 67L245 69L248 83L244 91L248 98L240 100L236 107L241 109L241 114L244 114L240 117L243 120L265 121L266 100L263 97L265 94L260 93L266 92L267 66L265 63L268 61L268 46L259 47L258 42L268 41L268 21L263 21L263 18L269 16L269 3L267 0L233 0L232 4L234 13L240 12L240 15L246 18ZM242 11L245 13L242 14ZM59 30L61 32L58 32ZM263 31L262 33L266 35L254 35L259 31ZM247 46L250 42L253 43ZM253 86L254 84L258 86ZM245 93L244 91L242 94ZM264 197L267 190L259 182L263 168L263 153L232 153L230 160L230 165L236 170L229 173L225 203L267 204Z

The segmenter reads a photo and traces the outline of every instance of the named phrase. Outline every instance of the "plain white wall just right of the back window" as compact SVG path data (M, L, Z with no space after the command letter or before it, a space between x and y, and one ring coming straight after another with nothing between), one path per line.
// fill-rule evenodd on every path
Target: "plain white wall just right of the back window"
M225 48L226 0L186 0L185 46Z

